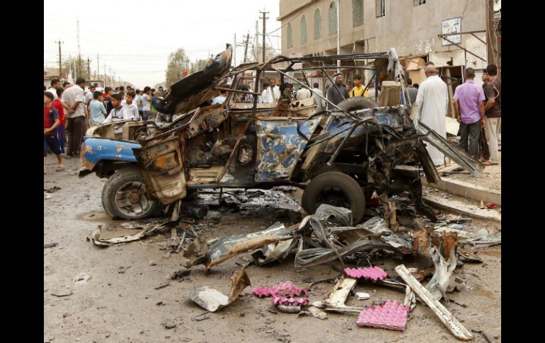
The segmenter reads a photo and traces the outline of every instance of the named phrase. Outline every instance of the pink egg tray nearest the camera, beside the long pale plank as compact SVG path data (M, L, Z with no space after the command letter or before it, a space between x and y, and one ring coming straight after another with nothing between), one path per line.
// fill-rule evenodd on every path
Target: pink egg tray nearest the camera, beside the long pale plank
M358 326L380 327L389 330L405 330L409 307L397 301L387 300L379 306L369 306L357 317Z

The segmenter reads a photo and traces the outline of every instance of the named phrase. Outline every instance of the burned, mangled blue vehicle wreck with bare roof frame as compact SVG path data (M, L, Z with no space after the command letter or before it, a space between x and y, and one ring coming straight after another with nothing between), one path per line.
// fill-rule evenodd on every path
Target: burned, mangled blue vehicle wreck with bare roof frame
M428 182L440 180L424 142L467 170L482 170L423 124L415 127L408 114L411 104L401 100L402 67L393 49L277 56L232 69L231 52L228 45L205 69L178 81L164 100L154 103L167 124L147 125L136 141L84 138L80 177L94 172L108 178L102 199L110 216L139 219L175 211L188 194L204 188L292 185L304 189L302 207L309 213L331 204L350 209L357 223L373 192L408 192L415 210L436 221L421 200L420 170ZM311 92L310 98L300 100L289 96L292 86L287 83L311 89L306 71L320 71L331 80L336 60L371 61L357 68L373 72L369 83L378 86L381 81L381 97L348 98L338 105L321 97L333 110L316 112L315 97L320 95ZM260 85L271 75L286 85L284 92L277 103L260 103ZM241 90L241 84L253 91ZM222 90L228 91L225 102L210 105Z

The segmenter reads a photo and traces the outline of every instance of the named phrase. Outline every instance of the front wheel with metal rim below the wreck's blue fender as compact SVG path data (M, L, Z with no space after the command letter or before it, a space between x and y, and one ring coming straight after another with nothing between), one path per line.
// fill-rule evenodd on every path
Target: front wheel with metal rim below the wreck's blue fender
M142 219L161 214L161 203L146 195L146 184L137 168L117 170L102 190L102 204L113 219Z

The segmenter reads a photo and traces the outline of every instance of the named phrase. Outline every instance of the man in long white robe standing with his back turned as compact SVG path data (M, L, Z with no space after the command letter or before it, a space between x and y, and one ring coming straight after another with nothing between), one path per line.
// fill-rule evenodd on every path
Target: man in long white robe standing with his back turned
M447 115L447 106L449 105L449 93L447 83L435 75L435 66L430 64L425 67L426 78L418 87L416 95L416 110L418 111L418 121L426 124L430 129L447 138L447 127L445 116ZM420 127L419 133L426 133L427 130ZM444 154L437 150L435 146L426 143L426 149L430 153L433 164L436 166L444 163Z

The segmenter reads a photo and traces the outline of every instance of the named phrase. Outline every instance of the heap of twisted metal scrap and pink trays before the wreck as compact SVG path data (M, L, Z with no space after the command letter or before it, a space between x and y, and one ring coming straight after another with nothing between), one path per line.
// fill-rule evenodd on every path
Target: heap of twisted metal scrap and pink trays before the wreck
M425 226L416 229L398 226L396 231L393 231L388 228L388 221L379 216L352 226L351 216L348 209L322 204L316 214L306 216L301 223L288 228L275 223L264 231L247 235L214 238L207 242L197 239L184 252L186 266L205 264L207 268L211 268L231 257L250 251L253 251L253 262L262 266L273 261L282 261L294 251L295 267L331 263L340 274L336 278L333 290L322 301L310 302L306 298L311 295L311 288L316 281L311 283L307 290L299 289L290 282L253 289L256 296L272 297L272 304L278 306L279 310L311 314L321 319L326 316L324 311L357 312L360 313L357 325L404 330L418 296L418 299L436 313L454 336L462 340L472 339L473 335L439 302L445 293L457 289L454 280L456 278L452 276L452 272L459 263L458 257L463 257L466 262L478 262L478 259L471 259L467 252L458 249L457 230L437 228L437 231L433 231ZM467 235L464 236L460 238L462 241L472 241ZM491 243L500 240L485 238L483 235L479 237ZM400 264L396 267L398 275L393 277L369 262L369 257L377 253L398 258L409 255L425 257L424 260L428 260L432 267L409 271ZM357 268L345 267L345 263L355 264ZM362 268L362 265L368 267ZM420 281L430 276L431 279L425 287L420 284ZM345 306L345 301L358 282L381 284L405 291L405 300L403 303L389 300L379 306ZM247 284L250 284L249 281ZM366 298L365 293L361 296Z

